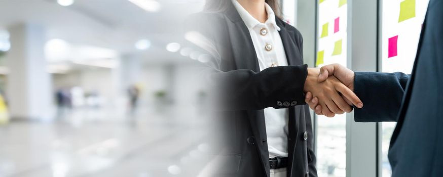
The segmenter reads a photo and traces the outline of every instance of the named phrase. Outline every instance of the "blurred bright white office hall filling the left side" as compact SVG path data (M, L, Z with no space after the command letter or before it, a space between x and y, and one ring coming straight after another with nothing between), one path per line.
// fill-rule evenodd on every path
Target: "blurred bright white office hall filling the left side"
M196 176L204 1L0 1L0 176Z

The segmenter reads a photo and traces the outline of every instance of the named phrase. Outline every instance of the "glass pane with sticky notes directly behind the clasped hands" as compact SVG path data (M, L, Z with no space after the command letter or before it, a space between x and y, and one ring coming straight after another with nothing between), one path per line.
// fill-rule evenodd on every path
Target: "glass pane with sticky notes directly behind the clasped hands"
M346 1L319 1L316 66L346 66ZM317 169L319 176L346 176L346 115L317 119Z

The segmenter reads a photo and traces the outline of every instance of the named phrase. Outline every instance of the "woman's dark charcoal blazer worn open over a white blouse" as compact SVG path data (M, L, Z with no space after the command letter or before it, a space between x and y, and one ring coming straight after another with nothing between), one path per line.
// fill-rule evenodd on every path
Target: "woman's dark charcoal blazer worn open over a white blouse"
M215 142L226 163L216 175L269 176L269 152L264 108L289 109L288 176L317 176L309 107L304 101L307 66L303 65L302 35L277 18L288 65L260 71L249 31L230 3L222 12L191 17L191 30L203 34L217 54L206 72L222 102ZM222 131L216 131L221 129ZM216 135L214 136L216 137ZM220 143L223 142L223 143Z

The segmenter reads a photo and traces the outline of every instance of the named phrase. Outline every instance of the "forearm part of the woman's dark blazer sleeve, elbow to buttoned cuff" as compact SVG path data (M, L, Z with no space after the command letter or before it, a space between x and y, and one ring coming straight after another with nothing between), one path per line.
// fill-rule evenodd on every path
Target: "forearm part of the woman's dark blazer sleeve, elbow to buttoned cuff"
M211 91L220 102L221 111L288 108L304 105L307 65L267 68L261 72L247 69L207 73Z

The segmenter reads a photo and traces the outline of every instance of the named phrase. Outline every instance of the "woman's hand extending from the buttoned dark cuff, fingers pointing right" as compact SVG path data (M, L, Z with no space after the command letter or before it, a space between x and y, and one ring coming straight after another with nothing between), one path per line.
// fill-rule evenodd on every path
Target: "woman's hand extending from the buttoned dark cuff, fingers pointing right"
M321 106L319 109L321 109L320 112L322 114L328 117L334 117L335 114L352 111L352 107L345 100L349 100L354 104L361 102L354 92L334 76L326 77L327 79L319 82L318 78L320 73L318 68L308 68L308 76L305 81L304 90L308 92L306 94L307 98L310 96L311 99L315 97L312 100L317 100L315 105L311 99L309 99L309 102L307 100L306 103L308 103L311 108L315 108L317 105Z

